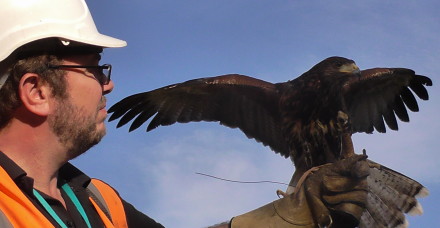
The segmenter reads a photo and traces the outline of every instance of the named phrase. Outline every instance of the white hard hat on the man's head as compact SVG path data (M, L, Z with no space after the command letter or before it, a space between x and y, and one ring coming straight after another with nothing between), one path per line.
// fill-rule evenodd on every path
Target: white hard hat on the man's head
M25 44L51 37L64 45L127 45L98 32L84 0L0 0L0 62Z

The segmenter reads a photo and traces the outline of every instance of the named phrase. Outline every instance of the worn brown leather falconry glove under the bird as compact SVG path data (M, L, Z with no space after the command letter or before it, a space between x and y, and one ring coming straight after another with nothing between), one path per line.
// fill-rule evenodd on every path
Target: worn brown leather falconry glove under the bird
M367 202L366 155L318 167L295 193L234 217L232 228L355 227Z

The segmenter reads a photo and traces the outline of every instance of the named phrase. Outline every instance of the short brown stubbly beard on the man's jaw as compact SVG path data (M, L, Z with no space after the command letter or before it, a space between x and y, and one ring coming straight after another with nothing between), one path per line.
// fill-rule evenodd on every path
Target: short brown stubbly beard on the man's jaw
M105 97L102 97L102 102L105 102ZM105 127L102 130L97 129L98 109L95 114L87 116L87 112L72 104L69 98L59 99L57 103L58 108L48 118L48 123L58 140L66 147L70 160L98 144L106 131Z

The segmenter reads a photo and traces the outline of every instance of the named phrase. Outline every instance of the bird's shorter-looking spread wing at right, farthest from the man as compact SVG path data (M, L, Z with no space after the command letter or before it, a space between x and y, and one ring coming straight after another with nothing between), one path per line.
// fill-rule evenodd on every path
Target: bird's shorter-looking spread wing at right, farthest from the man
M413 93L422 100L428 100L425 86L431 85L431 79L416 75L410 69L363 70L360 78L347 81L343 87L353 133L372 133L374 129L386 132L385 123L390 129L397 130L396 116L408 122L407 108L413 112L419 110Z

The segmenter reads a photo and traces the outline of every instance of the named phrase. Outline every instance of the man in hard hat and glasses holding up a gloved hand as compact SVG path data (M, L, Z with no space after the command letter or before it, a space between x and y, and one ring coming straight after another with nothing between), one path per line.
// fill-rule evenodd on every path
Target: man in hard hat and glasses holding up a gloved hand
M0 3L0 227L163 227L68 163L105 135L114 85L100 53L125 41L100 34L84 0ZM364 160L321 167L295 194L231 226L354 226Z

